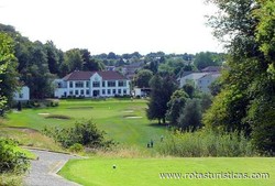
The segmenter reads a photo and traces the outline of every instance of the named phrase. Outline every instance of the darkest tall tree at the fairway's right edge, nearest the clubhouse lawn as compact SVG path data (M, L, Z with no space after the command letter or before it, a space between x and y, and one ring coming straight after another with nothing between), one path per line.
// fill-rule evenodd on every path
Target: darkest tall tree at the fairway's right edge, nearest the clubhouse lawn
M151 99L146 110L147 118L150 120L157 119L158 123L163 120L163 123L166 123L167 102L176 87L174 80L170 77L162 78L160 75L155 75L150 80L150 87Z

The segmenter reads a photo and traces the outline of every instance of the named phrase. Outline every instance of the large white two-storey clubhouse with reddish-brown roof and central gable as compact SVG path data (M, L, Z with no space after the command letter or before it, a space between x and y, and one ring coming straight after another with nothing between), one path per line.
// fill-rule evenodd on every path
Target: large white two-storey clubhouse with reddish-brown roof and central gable
M54 80L54 96L62 97L114 97L130 95L130 80L118 72L75 70Z

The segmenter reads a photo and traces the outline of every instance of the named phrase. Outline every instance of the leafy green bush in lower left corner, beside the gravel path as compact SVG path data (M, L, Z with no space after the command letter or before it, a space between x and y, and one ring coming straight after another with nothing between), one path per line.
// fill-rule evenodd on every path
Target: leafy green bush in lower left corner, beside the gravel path
M0 173L25 173L30 162L25 154L14 151L18 143L10 139L0 139Z

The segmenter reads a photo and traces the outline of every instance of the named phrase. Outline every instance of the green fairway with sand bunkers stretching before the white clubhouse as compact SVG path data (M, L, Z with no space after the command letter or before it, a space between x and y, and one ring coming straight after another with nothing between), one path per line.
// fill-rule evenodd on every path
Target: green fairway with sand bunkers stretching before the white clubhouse
M158 141L166 131L165 128L151 124L146 119L145 108L145 100L61 100L56 108L23 109L21 112L9 113L3 124L40 131L45 125L66 128L76 120L92 118L110 139L131 146L145 146L151 139ZM62 114L70 120L48 119L48 114Z

